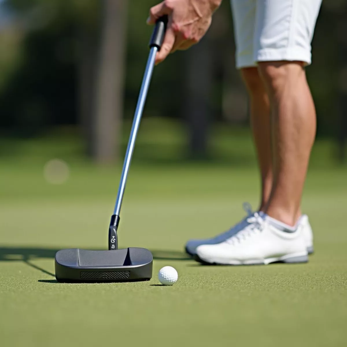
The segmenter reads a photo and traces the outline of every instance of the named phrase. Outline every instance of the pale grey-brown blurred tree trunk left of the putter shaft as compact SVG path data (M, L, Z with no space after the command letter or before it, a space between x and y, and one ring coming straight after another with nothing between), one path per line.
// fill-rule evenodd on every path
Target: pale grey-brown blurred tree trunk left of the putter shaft
M125 0L103 0L103 18L96 71L93 156L96 162L119 159L120 127L123 112Z

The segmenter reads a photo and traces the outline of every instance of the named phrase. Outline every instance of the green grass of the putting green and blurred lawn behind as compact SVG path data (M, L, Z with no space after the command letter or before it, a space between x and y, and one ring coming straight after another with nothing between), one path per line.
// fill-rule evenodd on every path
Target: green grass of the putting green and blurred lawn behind
M186 240L243 218L244 201L257 205L252 143L242 131L221 136L219 159L185 163L177 159L181 141L141 134L119 240L151 249L150 282L60 284L53 277L56 250L106 247L119 168L93 167L79 158L77 142L58 136L3 151L0 346L346 346L347 169L324 155L332 145L316 144L305 189L315 235L308 264L201 266L183 253ZM70 166L63 185L43 177L55 157ZM164 265L178 270L173 287L157 286Z

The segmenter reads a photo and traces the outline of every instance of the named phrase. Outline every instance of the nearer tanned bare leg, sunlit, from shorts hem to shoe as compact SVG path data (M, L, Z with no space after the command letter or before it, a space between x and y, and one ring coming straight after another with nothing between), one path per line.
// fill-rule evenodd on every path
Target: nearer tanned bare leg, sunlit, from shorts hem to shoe
M315 108L301 62L260 62L271 103L273 186L264 212L294 226L316 132Z

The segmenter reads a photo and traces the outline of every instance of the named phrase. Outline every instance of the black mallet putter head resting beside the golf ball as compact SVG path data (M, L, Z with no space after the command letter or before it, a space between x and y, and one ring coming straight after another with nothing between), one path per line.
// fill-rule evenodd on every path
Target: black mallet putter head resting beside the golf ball
M56 253L58 282L126 282L152 278L152 253L145 248L115 251L63 249Z

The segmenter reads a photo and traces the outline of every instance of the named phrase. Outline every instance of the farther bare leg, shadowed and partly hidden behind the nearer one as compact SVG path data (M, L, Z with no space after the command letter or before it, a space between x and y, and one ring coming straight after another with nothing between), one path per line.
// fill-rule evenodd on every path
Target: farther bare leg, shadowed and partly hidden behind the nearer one
M241 75L250 99L252 131L261 173L262 191L259 210L262 210L268 203L272 188L269 98L257 68L243 68Z

